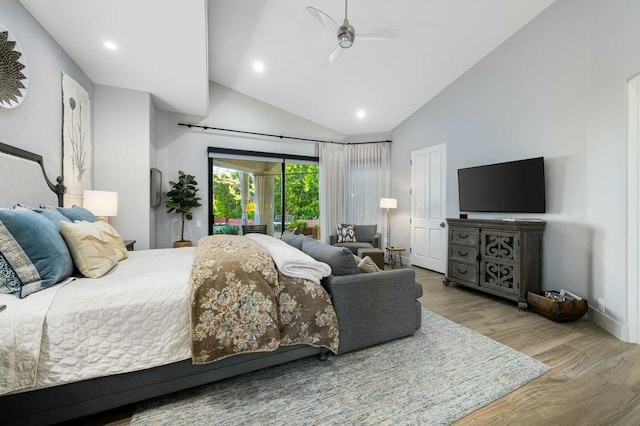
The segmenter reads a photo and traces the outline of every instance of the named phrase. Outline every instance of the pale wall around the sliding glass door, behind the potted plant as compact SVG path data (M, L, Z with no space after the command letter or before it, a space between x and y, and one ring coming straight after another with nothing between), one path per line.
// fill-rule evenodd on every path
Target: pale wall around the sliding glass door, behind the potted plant
M156 120L157 167L162 171L163 195L168 191L170 180L176 180L178 170L192 174L198 181L202 207L194 211L194 219L185 225L185 239L196 242L207 235L208 185L207 148L231 148L248 151L287 153L317 156L314 143L295 142L265 137L224 132L202 131L178 126L179 122L270 133L310 139L341 141L344 135L319 126L308 120L282 111L271 105L235 92L217 83L209 88L209 116L207 118L184 116L159 111ZM180 219L176 214L168 215L162 206L157 209L157 246L171 247L180 237ZM200 221L201 226L196 227Z

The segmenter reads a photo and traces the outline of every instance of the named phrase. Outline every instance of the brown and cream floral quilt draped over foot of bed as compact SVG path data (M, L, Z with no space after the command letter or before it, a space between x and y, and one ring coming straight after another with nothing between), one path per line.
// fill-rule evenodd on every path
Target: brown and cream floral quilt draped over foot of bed
M307 344L338 350L338 320L326 290L282 275L260 244L237 235L198 242L191 271L194 364Z

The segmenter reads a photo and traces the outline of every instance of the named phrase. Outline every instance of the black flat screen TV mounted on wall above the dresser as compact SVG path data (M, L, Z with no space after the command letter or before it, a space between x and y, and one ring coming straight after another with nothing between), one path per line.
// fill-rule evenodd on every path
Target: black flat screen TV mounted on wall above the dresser
M460 211L544 213L544 158L458 169Z

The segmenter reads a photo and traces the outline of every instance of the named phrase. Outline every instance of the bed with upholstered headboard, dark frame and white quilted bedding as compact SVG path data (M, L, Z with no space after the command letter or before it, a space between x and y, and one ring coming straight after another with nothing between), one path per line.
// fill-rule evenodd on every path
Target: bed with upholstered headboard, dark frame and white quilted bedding
M62 179L53 184L37 154L0 144L0 176L11 182L0 193L0 207L62 204ZM0 312L0 327L16 306L36 311L26 302L45 306L46 316L40 331L30 331L35 338L25 338L39 355L25 364L31 369L25 380L32 382L0 396L0 423L52 424L303 357L326 358L330 345L289 339L268 351L218 354L194 365L189 277L196 250L131 252L102 278L64 282L21 304L1 294L0 304L9 308Z

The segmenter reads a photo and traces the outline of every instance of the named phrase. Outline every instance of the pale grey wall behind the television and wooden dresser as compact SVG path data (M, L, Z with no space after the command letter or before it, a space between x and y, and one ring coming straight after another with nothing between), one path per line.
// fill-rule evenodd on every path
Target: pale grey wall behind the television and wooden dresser
M412 150L447 143L449 217L457 169L544 156L543 287L589 298L591 317L625 339L625 90L640 72L638 16L637 1L558 0L394 129L398 243L410 242Z

